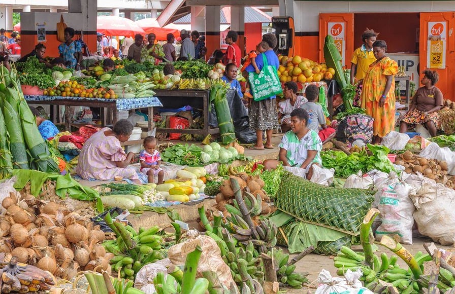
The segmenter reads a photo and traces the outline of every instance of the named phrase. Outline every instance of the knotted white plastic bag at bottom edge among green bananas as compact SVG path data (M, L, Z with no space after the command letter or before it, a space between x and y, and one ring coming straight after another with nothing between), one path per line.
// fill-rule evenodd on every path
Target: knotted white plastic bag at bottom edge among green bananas
M344 278L334 278L328 270L322 270L319 273L319 285L317 286L316 294L373 294L372 291L364 288L362 282L359 281L362 275L361 269L356 272L347 270Z

